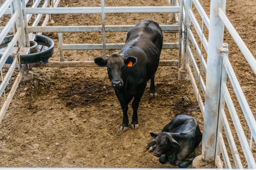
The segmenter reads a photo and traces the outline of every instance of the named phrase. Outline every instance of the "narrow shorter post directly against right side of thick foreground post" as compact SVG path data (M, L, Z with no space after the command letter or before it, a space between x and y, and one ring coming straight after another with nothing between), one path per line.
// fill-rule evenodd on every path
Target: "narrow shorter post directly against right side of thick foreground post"
M227 43L223 43L223 49L221 50L222 55L228 56L228 44ZM222 62L221 62L222 65ZM227 72L226 69L224 67L224 65L222 65L221 68L221 84L227 82ZM221 86L221 85L220 85ZM221 109L225 109L225 99L223 94L220 91L220 107L219 107L219 113ZM223 124L221 122L220 116L218 118L218 131L217 131L217 139L218 139L218 134L222 134L222 130L223 130ZM221 150L220 150L220 143L217 140L217 144L216 144L216 154L215 154L215 165L218 165L218 158L220 158L220 154L221 154ZM222 166L222 165L221 165ZM217 166L218 167L218 166ZM218 167L219 168L219 167Z

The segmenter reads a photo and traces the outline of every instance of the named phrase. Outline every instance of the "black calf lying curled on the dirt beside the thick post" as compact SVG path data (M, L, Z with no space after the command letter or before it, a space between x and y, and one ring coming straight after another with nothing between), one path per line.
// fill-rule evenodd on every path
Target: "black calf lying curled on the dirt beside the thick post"
M154 138L147 148L164 164L186 168L195 158L195 148L202 140L202 133L196 120L187 115L174 117L159 133L150 133Z

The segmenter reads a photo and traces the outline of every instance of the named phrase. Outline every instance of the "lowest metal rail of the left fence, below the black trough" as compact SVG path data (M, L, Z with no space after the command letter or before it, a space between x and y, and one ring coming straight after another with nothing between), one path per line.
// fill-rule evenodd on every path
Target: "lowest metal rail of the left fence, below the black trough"
M8 94L6 100L5 100L5 102L4 102L4 104L3 104L2 108L1 108L1 111L0 111L0 123L2 122L3 116L5 116L5 112L8 109L8 107L9 107L9 105L11 103L11 100L13 99L15 91L17 90L17 87L18 87L18 85L20 83L20 80L21 80L21 78L23 76L24 70L25 70L25 65L22 65L22 67L21 67L21 69L19 71L19 74L16 77L16 79L15 79L15 81L13 83L13 86L12 86L11 90L9 91L9 94Z

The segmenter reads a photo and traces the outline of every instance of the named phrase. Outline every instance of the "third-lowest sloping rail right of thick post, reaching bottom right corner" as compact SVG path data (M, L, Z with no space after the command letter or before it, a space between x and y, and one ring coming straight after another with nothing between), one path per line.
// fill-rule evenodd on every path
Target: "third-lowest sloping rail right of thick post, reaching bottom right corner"
M253 157L253 154L251 153L247 138L245 136L245 133L243 132L243 127L239 121L239 117L237 116L237 112L236 109L234 107L234 104L232 102L231 96L228 92L228 88L226 86L226 84L221 84L221 93L223 94L225 101L226 101L226 105L228 107L231 119L233 121L233 125L236 129L236 133L237 136L239 138L243 153L245 155L245 159L247 161L248 164L248 168L256 168L256 163Z

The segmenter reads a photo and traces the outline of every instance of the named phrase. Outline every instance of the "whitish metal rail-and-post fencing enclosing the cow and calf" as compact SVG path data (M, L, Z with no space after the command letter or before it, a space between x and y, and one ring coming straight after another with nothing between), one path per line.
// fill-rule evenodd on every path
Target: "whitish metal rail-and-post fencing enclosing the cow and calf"
M197 9L200 16L202 17L202 26L198 24L196 17L193 13L193 11L195 10L193 10L192 8L192 2L194 7ZM226 168L242 168L246 166L248 166L248 168L256 168L255 153L252 153L253 148L255 148L256 137L256 123L254 118L255 116L253 115L247 103L247 100L245 99L242 88L240 87L236 75L234 74L232 66L229 62L229 45L223 43L224 25L226 29L230 32L232 38L237 43L239 49L242 51L242 54L248 61L254 74L256 73L256 61L246 45L243 43L242 39L237 34L236 30L232 27L228 18L226 17L225 1L211 2L210 19L204 12L198 0L187 0L184 4L185 8L183 8L182 1L179 3L176 2L176 6L154 7L112 7L105 6L104 0L101 1L101 7L57 8L60 1L55 0L51 1L51 3L50 1L45 1L43 4L41 4L41 8L37 8L37 6L40 4L40 0L36 0L31 8L26 8L25 6L27 3L28 1L20 2L18 0L6 0L0 8L0 17L2 17L3 14L11 15L11 19L8 23L6 23L5 27L0 28L0 42L3 41L8 32L14 32L13 40L9 43L7 49L3 53L2 58L0 59L1 70L4 66L9 67L9 71L5 74L5 77L3 78L2 76L2 83L0 86L1 95L5 92L7 83L10 80L12 74L14 73L15 68L18 67L20 69L17 78L13 83L13 87L10 89L8 96L6 97L6 100L1 108L0 121L2 121L4 114L8 109L9 104L11 103L15 91L17 90L17 87L20 83L21 77L23 76L23 74L29 75L28 70L31 70L35 67L94 67L95 65L93 61L90 60L65 61L64 50L102 50L103 57L106 57L106 50L122 48L122 43L106 43L106 32L126 32L133 25L106 25L105 15L111 13L176 12L176 21L173 22L173 24L160 26L164 32L182 32L182 34L179 34L179 39L177 42L165 42L163 44L164 49L177 49L177 59L171 60L167 58L165 60L160 60L160 66L177 66L178 68L182 66L179 69L179 74L181 76L180 79L182 80L186 77L189 77L190 81L192 82L192 87L195 91L196 100L198 101L201 113L203 113L204 115L202 158L207 161L215 160L215 164L218 168L223 167L221 163L222 161L225 163ZM46 14L46 16L44 17L44 21L41 22L41 26L37 26L41 17L43 16L42 14ZM46 26L47 23L49 23L49 25L53 24L51 14L101 14L101 25ZM31 23L31 26L28 26L27 22L29 22L31 18L33 18L33 23ZM184 21L184 24L182 24L182 21ZM204 28L209 29L209 45L206 37L204 36ZM20 54L22 54L22 49L24 49L23 51L26 51L25 48L26 46L28 47L28 39L33 40L35 38L32 34L30 34L33 32L37 32L38 34L42 34L42 32L58 33L58 46L60 51L59 61L20 65L19 57L15 56L14 61L11 65L4 65L7 57L10 53L12 53L11 51L13 50L14 46L18 46L17 42L19 42L19 47L21 47L19 49ZM101 32L102 43L63 43L63 34L65 32ZM198 36L194 37L193 34L195 33ZM182 42L182 40L184 41L184 43ZM200 47L197 42L201 42ZM204 49L202 49L202 46L205 51ZM195 51L193 49L195 49ZM193 57L195 55L198 59ZM206 58L204 58L203 55L207 55L207 64ZM183 56L182 63L181 56ZM191 70L190 65L192 65L194 69L193 71ZM193 76L193 74L195 74L195 77ZM226 86L227 74L229 77L229 81L234 88L234 92L245 116L248 130L251 134L249 143L247 141L247 136L245 135L242 125L239 121L239 117L237 116L235 106L232 103L229 90ZM204 80L205 78L206 80ZM199 85L197 85L196 80L199 80ZM228 123L228 118L226 116L226 113L228 113L227 109L225 112L225 104L231 115L231 119L229 119L229 121L232 120L232 122L234 122L234 127L240 143L234 140L234 137L232 135L231 128L229 127ZM223 129L225 133L222 133ZM224 139L223 134L226 134L224 136ZM225 145L229 145L230 152L234 161L229 160L231 156L228 155L228 151ZM241 147L242 150L239 150L238 152L237 147ZM243 165L244 162L242 164L240 160L240 155L242 153L244 153L244 157L248 165ZM232 164L231 162L234 163Z

